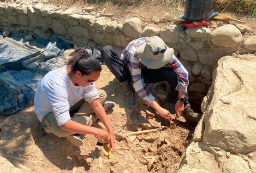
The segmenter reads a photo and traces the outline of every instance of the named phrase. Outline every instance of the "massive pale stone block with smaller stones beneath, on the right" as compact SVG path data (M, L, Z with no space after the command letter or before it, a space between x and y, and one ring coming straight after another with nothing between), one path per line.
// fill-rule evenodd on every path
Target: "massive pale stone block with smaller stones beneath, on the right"
M256 173L256 55L217 66L179 173Z

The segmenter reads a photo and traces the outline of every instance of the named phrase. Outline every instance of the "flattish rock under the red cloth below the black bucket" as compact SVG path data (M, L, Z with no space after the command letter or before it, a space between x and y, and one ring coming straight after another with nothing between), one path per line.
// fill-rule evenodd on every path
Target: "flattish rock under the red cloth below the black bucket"
M201 25L196 28L187 28L186 33L193 38L203 38L208 37L211 34L211 31Z

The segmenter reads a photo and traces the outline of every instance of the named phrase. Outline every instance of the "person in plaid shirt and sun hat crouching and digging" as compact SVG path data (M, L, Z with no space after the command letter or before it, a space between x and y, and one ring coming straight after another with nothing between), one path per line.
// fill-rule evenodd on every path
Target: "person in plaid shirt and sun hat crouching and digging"
M173 49L168 48L161 38L153 36L135 39L126 46L120 58L113 47L107 45L101 50L101 57L122 84L127 107L135 107L135 90L159 115L169 121L172 120L170 112L155 101L155 97L145 85L145 82L167 81L177 99L176 117L182 115L190 123L199 122L202 115L193 112L188 102L188 72L174 56ZM169 67L164 67L166 65Z

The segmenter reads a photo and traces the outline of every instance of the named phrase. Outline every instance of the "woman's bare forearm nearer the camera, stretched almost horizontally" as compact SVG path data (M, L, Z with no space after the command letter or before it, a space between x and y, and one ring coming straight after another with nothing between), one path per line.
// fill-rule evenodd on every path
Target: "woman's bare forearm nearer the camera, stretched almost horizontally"
M99 133L99 129L98 128L86 126L86 125L77 123L77 122L75 122L73 120L69 120L65 124L61 125L60 128L62 130L65 130L65 131L68 131L68 132L72 132L72 133L75 133L75 134L93 134L93 135L98 135L98 133Z

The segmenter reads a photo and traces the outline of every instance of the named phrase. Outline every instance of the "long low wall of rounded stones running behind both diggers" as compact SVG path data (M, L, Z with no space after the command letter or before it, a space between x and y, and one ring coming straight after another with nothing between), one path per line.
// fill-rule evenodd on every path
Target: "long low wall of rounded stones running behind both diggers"
M221 21L210 21L208 28L184 28L182 25L149 24L132 17L124 23L92 8L62 9L46 4L0 4L0 28L38 35L50 39L58 34L67 42L100 49L104 45L125 47L142 36L160 36L189 72L189 92L200 104L212 83L212 71L222 56L256 51L256 36L246 25L236 26ZM245 34L246 33L246 34ZM245 36L246 35L246 36ZM249 35L249 36L248 36ZM119 49L120 50L120 49ZM190 96L191 96L190 95ZM192 97L192 96L191 96Z

